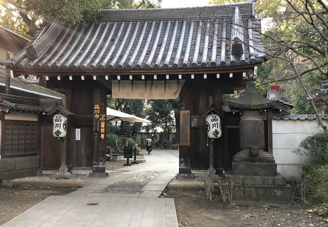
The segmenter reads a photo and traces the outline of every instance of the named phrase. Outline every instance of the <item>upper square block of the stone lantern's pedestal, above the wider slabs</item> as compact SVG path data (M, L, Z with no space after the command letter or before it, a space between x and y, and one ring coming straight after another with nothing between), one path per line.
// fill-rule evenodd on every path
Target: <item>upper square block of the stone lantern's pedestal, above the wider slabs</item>
M277 176L277 163L232 162L233 175L239 176Z

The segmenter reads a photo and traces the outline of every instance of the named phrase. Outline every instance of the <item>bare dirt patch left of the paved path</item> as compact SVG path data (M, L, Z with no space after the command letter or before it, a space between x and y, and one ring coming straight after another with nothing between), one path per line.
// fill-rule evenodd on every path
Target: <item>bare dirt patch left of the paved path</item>
M66 195L73 191L75 188L0 186L0 225L51 195Z

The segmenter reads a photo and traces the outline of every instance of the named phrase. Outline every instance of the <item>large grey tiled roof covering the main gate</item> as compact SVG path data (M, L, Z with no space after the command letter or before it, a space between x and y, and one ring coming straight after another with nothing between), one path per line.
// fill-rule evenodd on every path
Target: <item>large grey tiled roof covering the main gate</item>
M260 20L254 17L254 11L254 2L250 1L199 8L103 10L102 17L88 26L55 20L34 40L38 58L26 58L24 50L12 62L2 64L36 71L256 64L265 54L258 32Z

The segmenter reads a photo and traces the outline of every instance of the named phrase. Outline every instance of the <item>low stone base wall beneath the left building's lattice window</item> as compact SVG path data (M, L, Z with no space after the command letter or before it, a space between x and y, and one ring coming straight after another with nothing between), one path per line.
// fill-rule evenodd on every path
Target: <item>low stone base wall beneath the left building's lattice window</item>
M0 179L12 180L36 176L39 169L39 156L0 159Z

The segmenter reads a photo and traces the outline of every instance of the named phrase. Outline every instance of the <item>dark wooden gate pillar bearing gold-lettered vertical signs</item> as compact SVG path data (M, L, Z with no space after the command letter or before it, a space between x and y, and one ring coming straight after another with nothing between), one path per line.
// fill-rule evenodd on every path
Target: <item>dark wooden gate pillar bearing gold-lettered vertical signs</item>
M106 148L106 92L96 88L93 91L93 161L92 172L105 173Z

